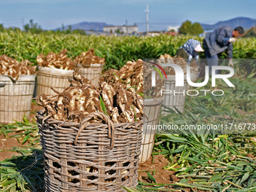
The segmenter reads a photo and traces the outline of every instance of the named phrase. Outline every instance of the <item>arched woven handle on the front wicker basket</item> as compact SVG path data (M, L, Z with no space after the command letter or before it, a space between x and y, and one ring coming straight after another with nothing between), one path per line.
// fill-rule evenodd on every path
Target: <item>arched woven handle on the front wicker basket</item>
M105 123L108 123L108 138L111 139L110 149L114 148L114 124L110 120L110 118L102 112L93 112L88 114L87 117L84 117L84 119L81 121L81 126L79 128L78 134L77 136L75 136L74 144L77 145L78 136L88 125L90 125L90 123L87 122L94 117L99 117L102 120L105 120Z

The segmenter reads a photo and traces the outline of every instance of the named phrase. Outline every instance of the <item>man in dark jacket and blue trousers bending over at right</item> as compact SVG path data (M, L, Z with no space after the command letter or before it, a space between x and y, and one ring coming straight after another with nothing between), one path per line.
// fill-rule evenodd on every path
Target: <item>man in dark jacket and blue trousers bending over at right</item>
M229 59L228 66L233 66L233 42L243 33L244 29L241 26L235 29L222 26L206 35L206 38L203 39L203 48L210 71L212 66L218 66L218 53L225 50L227 50L227 58Z

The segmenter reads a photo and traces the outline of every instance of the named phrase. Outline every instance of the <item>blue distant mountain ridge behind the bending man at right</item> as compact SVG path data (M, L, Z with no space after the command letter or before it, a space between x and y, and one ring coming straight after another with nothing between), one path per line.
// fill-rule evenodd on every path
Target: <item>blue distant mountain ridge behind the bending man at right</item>
M246 17L236 17L232 20L219 21L213 25L203 24L201 26L204 30L208 29L217 29L220 26L230 26L231 28L236 28L236 26L242 26L244 29L250 29L253 26L256 26L256 20Z

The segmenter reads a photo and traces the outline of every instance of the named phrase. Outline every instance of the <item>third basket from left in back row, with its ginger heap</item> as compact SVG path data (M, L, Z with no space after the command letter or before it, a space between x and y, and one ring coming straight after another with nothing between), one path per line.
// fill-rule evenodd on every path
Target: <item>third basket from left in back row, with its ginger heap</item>
M89 79L93 85L98 86L99 78L101 77L100 75L105 64L105 58L96 56L94 49L90 49L76 56L74 61L76 63L75 72L80 73Z

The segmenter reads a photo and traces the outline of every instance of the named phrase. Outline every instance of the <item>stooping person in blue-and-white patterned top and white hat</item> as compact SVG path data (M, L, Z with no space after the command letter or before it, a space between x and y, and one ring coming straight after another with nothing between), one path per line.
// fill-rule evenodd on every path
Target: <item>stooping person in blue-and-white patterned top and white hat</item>
M177 50L175 56L180 56L183 59L187 59L187 64L190 66L190 62L193 58L198 63L198 52L200 51L203 52L200 41L190 38L179 48L179 50Z

